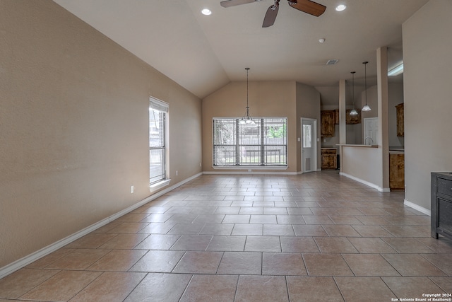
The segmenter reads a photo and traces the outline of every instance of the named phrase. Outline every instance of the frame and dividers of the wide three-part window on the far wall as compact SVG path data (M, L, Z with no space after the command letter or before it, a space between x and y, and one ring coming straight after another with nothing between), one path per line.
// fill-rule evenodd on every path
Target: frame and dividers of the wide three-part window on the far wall
M240 121L242 120L241 117L213 117L213 121L212 121L212 129L213 129L213 134L212 134L212 167L214 169L243 169L243 168L252 168L252 169L268 169L268 170L285 170L288 168L288 156L287 156L287 150L288 150L288 144L287 144L287 117L254 117L253 120L254 122L256 122L257 127L259 129L259 137L260 137L260 141L259 144L242 144L241 140L243 138L243 134L240 134L240 127L244 124L242 124ZM266 141L266 139L268 139L267 133L268 133L268 124L269 122L274 120L283 120L283 134L285 134L285 136L283 137L283 144L268 144L268 142ZM234 124L234 127L232 130L230 130L229 135L233 135L232 137L232 144L218 144L218 139L215 136L218 132L218 128L216 127L215 121L225 121L225 122L229 122L230 126L232 126L232 124ZM244 125L246 127L246 124ZM243 126L242 126L243 127ZM249 127L249 126L248 126ZM215 142L217 144L215 144ZM234 158L233 161L228 161L227 163L222 163L222 164L218 164L218 158L217 156L219 156L218 154L221 153L221 151L218 151L218 148L220 147L229 147L230 151L229 153L233 153L234 155L229 156L229 158ZM240 156L241 153L243 153L243 149L241 148L246 148L246 146L251 147L251 148L255 148L256 149L256 153L258 153L258 158L260 158L260 160L256 163L249 163L249 162L243 162L242 161L242 157ZM278 148L282 148L282 149L278 149L278 150L272 150L275 151L275 153L278 153L279 158L281 158L281 156L284 159L284 162L281 163L281 160L279 160L279 163L268 163L267 162L267 158L268 158L268 153L266 151L268 151L268 147L273 147L273 149L278 149ZM217 150L217 151L215 151ZM264 150L264 152L263 152ZM224 149L222 150L224 151ZM280 155L280 151L283 151L282 155ZM227 151L228 152L228 151ZM250 152L247 150L247 152ZM251 153L253 153L253 151L251 150ZM275 155L276 156L276 155ZM245 158L247 158L247 156L244 156Z

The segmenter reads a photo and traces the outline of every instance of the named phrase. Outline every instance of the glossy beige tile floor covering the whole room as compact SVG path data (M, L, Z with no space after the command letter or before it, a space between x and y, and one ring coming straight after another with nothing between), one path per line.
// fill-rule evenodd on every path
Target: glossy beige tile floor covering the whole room
M0 279L0 301L452 294L452 241L403 198L337 171L202 175Z

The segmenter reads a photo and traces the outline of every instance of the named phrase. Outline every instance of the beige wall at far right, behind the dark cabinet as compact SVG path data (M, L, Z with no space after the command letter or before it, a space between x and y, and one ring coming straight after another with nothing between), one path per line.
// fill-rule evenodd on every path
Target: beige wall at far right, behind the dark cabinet
M431 0L403 23L405 199L430 209L430 173L452 170L452 1Z

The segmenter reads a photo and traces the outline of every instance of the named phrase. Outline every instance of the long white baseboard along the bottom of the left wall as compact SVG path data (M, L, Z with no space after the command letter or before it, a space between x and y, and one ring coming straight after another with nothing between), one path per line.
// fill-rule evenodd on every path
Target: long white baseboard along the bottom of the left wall
M57 242L52 243L51 245L47 245L45 248L37 250L36 252L32 252L30 255L27 255L19 260L16 260L15 262L10 263L9 265L1 267L0 268L0 279L3 277L6 277L8 274L16 272L16 270L21 269L22 267L25 267L32 262L35 262L36 260L44 257L45 255L49 255L51 252L54 252L55 250L58 250L59 248L62 248L65 245L68 245L69 243L77 240L78 238L81 238L81 237L87 235L88 233L91 233L91 232L97 230L97 228L100 228L101 226L105 226L107 223L112 222L115 219L118 219L119 217L124 216L125 214L128 214L129 212L133 211L134 209L138 209L139 207L143 206L144 204L147 204L148 202L156 199L157 197L160 197L163 194L166 194L167 192L174 190L175 188L177 188L181 185L184 185L184 183L189 182L190 180L194 180L194 178L198 178L202 174L203 173L198 173L196 175L191 176L190 178L186 178L185 180L182 180L182 182L178 182L177 184L172 185L171 187L167 187L165 190L156 192L155 194L152 194L149 197L146 197L145 199L141 200L141 202L133 204L131 207L128 207L122 211L117 212L116 214L113 214L112 216L102 219L101 221L98 221L98 222L88 226L87 228L83 228L83 230L73 233L72 235L67 236L66 238L63 238L61 240L58 240Z

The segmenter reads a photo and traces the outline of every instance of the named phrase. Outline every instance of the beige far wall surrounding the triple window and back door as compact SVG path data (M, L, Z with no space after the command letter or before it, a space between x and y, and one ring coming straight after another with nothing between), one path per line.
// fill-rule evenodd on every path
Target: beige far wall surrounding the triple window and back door
M246 82L232 82L203 99L203 170L213 169L213 117L242 117L246 107ZM320 93L316 88L295 81L249 82L249 111L252 117L287 117L288 168L301 170L300 117L317 119L320 137ZM319 161L320 161L320 144ZM248 169L242 169L242 171ZM252 169L251 169L252 170ZM240 171L240 170L239 170ZM265 170L259 170L264 172ZM234 172L238 172L234 170ZM281 172L281 171L279 171Z

